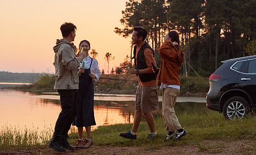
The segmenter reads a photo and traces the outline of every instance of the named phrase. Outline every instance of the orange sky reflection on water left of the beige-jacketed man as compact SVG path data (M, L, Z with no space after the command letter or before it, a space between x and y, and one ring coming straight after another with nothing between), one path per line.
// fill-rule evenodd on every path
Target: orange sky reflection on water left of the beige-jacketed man
M42 99L28 98L30 92L0 91L0 125L44 130L53 128L60 105ZM50 104L48 104L50 103Z

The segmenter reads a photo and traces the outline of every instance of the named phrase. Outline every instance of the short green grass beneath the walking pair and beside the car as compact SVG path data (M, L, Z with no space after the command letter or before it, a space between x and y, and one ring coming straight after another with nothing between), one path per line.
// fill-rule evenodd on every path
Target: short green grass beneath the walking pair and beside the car
M197 145L200 141L235 141L236 139L256 139L256 117L249 116L242 120L225 120L218 112L206 114L185 114L178 116L181 126L186 130L187 135L178 142L163 143L167 135L161 116L155 118L155 126L158 136L144 141L150 130L147 123L143 121L138 129L138 136L135 141L122 138L119 133L127 132L132 124L113 125L100 127L93 131L92 136L96 145L110 146L146 146L161 147L175 145ZM71 134L74 139L77 134ZM223 144L224 146L225 144Z

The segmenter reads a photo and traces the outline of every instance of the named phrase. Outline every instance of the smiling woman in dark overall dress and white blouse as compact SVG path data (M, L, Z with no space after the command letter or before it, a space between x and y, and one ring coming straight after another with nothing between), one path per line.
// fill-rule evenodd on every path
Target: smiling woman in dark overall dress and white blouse
M81 60L78 67L79 89L77 101L77 115L73 125L77 127L79 139L75 148L89 148L92 144L91 126L95 126L95 117L93 112L94 88L92 80L99 81L101 72L99 70L96 59L88 55L90 43L87 40L82 40L79 43L79 50L84 48L86 57ZM83 138L83 128L85 127L87 138Z

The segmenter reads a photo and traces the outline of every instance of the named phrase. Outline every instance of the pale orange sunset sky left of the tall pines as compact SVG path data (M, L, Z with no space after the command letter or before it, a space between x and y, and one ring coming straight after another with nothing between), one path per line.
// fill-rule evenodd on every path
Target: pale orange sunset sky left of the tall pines
M107 70L106 52L115 59L110 69L130 55L131 38L114 32L128 0L0 0L0 71L54 73L52 47L61 39L64 22L76 25L75 45L88 40L96 49L100 70ZM90 53L91 51L89 51Z

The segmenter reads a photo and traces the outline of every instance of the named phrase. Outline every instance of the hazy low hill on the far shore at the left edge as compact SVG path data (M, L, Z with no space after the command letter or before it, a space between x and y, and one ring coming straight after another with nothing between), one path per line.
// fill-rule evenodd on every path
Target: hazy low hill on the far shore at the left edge
M0 71L0 82L34 83L43 73L11 73Z

